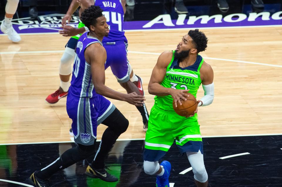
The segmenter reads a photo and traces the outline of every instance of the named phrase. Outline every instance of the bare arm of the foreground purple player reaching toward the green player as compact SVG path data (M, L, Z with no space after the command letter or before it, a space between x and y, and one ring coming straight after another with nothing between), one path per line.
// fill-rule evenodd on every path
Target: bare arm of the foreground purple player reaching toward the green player
M99 43L91 44L86 48L84 55L85 60L90 63L93 85L98 94L111 99L126 101L135 106L143 106L144 96L137 95L135 92L123 94L105 86L105 61L107 59L107 53L103 46Z

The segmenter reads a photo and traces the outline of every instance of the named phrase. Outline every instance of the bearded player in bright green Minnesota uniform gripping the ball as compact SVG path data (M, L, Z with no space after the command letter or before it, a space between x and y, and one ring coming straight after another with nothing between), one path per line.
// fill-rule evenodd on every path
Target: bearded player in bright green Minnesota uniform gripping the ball
M171 164L158 161L166 154L174 139L181 153L187 154L197 187L207 187L203 143L196 111L191 116L179 116L173 110L187 100L187 92L196 97L202 84L204 97L198 106L212 103L214 98L213 70L198 53L207 48L207 37L198 29L183 36L175 51L163 52L155 65L148 91L156 95L145 139L144 171L157 175L157 187L169 187ZM174 99L174 103L173 103Z

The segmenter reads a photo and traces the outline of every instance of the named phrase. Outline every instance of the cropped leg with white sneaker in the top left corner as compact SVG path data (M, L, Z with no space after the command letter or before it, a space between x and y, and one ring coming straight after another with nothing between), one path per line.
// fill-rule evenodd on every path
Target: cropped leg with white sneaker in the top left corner
M5 18L0 25L0 29L3 33L8 35L9 40L12 42L21 41L20 35L14 30L12 26L12 19L17 11L19 0L7 0L5 7Z

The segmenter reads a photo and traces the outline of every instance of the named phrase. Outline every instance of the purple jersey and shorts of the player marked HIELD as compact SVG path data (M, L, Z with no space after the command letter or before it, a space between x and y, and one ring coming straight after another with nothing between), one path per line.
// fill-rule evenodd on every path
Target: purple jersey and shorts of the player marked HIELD
M124 12L120 0L96 0L96 6L103 9L110 28L108 37L103 38L103 46L107 52L107 63L119 83L130 80L130 68L127 60L127 39L123 31Z

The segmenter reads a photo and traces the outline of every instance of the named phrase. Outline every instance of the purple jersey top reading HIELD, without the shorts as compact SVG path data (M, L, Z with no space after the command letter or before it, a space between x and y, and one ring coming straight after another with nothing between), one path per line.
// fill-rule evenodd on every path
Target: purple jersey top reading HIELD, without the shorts
M104 37L102 42L116 42L122 40L127 43L123 30L124 12L120 0L96 0L95 6L100 6L103 9L103 14L110 28L108 37Z

